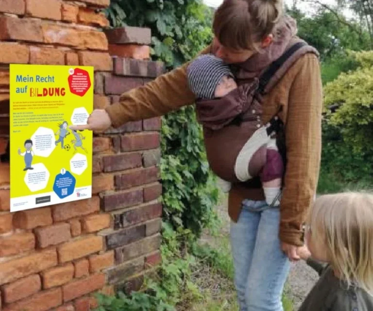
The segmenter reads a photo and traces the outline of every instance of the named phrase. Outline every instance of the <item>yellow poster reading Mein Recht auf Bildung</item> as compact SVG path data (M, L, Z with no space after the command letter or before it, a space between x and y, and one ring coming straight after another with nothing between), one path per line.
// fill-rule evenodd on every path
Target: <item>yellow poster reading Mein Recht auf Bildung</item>
M92 193L93 67L10 65L11 212Z

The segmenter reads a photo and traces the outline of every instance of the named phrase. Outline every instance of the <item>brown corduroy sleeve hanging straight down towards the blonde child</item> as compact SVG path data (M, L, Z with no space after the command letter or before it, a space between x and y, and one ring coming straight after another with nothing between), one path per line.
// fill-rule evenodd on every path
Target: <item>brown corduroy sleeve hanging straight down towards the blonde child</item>
M281 199L280 239L303 245L302 225L313 203L321 160L322 82L318 58L309 54L295 76L286 122L287 170Z

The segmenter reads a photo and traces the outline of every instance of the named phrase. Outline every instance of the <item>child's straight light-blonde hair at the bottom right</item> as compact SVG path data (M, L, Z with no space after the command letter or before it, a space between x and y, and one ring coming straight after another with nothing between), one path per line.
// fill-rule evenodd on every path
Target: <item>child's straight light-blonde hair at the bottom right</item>
M373 295L373 195L319 197L309 215L312 239L323 243L330 264L348 286Z

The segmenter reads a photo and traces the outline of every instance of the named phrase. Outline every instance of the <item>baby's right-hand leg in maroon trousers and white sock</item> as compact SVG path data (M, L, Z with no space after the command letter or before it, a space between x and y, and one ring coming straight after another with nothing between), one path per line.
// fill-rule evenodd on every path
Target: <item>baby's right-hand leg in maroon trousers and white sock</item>
M280 205L284 162L281 154L278 152L275 139L271 139L267 148L267 163L263 167L260 178L267 204L278 206Z

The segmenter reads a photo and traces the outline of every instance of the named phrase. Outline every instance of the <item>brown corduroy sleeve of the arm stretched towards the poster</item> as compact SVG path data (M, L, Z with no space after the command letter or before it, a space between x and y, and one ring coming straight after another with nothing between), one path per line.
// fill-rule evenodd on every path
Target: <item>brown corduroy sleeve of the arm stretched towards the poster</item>
M209 53L210 50L209 46L201 54ZM119 127L128 121L165 115L170 111L193 104L195 96L188 86L187 65L122 94L118 103L105 109L112 125Z

